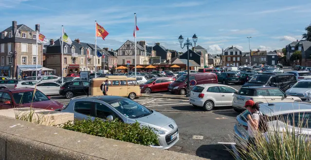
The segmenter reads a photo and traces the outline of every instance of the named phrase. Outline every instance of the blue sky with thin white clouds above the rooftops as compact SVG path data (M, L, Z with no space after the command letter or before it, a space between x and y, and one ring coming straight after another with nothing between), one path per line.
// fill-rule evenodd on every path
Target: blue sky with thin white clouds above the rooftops
M311 23L310 0L0 0L0 30L12 20L35 29L49 39L61 36L61 25L73 40L94 43L95 20L110 34L100 47L118 49L134 40L134 13L137 14L137 41L159 42L165 48L184 51L178 37L198 36L200 45L212 54L236 46L274 50L301 39Z

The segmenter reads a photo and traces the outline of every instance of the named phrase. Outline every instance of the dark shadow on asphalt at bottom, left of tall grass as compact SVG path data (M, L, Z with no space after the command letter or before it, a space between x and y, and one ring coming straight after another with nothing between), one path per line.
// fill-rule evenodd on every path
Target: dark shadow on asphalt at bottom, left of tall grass
M201 145L197 149L196 155L211 160L233 160L234 157L231 155L228 148L231 149L231 145L224 145L224 144Z

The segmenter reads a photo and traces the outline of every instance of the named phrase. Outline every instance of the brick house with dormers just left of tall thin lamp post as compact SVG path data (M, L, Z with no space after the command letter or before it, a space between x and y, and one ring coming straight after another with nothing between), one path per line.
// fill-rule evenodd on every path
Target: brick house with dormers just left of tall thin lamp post
M242 51L236 47L228 47L222 50L222 66L241 65Z

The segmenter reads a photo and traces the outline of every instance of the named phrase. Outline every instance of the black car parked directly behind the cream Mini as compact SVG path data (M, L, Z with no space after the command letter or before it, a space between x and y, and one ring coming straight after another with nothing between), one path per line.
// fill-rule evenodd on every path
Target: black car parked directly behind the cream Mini
M283 92L291 88L297 82L292 74L274 74L274 75L254 75L254 77L243 84L242 87L249 86L271 86L281 89Z

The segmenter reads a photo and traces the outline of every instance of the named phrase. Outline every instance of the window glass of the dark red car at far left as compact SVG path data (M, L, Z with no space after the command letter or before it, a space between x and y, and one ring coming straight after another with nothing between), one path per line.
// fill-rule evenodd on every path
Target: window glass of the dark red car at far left
M50 100L47 96L38 90L35 92L35 95L34 91L14 93L13 98L17 104Z

